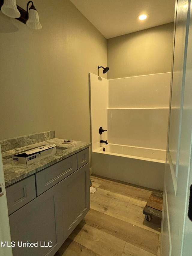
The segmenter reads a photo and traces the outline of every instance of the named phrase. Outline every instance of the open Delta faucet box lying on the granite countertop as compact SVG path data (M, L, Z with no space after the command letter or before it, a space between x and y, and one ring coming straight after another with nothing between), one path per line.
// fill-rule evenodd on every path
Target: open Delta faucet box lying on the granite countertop
M31 164L56 153L56 145L45 145L39 148L30 149L12 156L13 161L20 164Z

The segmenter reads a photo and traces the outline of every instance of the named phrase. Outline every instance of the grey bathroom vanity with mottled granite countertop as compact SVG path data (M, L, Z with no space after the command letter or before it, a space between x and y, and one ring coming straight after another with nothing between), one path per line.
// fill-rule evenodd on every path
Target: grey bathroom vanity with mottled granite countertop
M5 184L12 183L6 194L13 256L54 255L90 209L90 143L63 141L42 142L56 144L59 152L28 166L16 166L6 159L10 152L2 153ZM11 166L17 174L20 166L20 176L11 176Z

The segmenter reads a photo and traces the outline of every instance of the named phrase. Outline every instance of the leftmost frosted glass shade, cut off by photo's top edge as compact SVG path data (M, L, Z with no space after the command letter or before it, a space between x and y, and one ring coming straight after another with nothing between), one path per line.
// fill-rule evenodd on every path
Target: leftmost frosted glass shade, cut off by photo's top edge
M21 16L17 9L16 0L4 0L1 11L4 15L11 18L19 18Z

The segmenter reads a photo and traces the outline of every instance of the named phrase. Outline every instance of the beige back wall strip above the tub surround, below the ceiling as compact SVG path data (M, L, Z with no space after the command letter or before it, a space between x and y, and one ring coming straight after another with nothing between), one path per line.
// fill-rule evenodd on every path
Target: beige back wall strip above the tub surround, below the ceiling
M171 71L173 23L107 39L107 78Z

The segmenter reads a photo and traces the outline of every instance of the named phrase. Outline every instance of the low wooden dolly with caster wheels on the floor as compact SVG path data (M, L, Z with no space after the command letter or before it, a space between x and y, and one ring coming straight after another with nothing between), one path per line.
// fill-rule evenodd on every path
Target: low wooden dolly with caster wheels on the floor
M154 191L145 208L143 209L143 214L145 214L146 220L151 221L152 217L162 218L162 208L163 208L163 194Z

